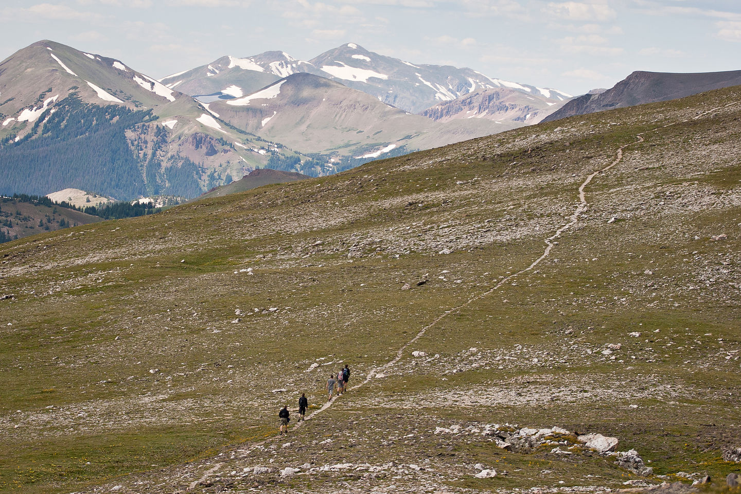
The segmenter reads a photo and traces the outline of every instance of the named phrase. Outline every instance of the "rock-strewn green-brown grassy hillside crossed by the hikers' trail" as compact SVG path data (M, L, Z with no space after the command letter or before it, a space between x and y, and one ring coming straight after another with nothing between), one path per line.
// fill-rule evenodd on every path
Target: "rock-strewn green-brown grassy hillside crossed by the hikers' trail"
M0 490L738 472L740 117L728 88L3 244ZM355 388L278 438L344 363ZM493 424L614 436L654 472L554 452L571 435L501 449Z

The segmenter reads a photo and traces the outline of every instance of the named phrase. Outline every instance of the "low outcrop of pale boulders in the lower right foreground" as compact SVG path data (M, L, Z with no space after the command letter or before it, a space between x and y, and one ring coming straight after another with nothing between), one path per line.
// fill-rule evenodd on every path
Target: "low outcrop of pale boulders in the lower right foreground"
M651 475L654 469L647 467L636 450L616 451L618 439L598 433L579 434L562 427L550 429L517 428L511 424L486 424L482 427L453 425L436 427L435 434L484 435L492 438L497 447L516 453L551 453L556 455L583 455L597 453L613 458L614 463L637 475ZM482 466L475 476L496 475ZM487 473L484 473L484 472ZM506 475L506 473L505 473Z

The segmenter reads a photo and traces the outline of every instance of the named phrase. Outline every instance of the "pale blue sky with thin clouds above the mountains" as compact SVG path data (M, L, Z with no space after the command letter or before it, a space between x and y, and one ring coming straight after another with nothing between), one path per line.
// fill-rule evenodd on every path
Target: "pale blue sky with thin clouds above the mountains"
M0 33L0 59L51 39L157 79L348 41L574 95L634 70L741 70L740 0L0 0Z

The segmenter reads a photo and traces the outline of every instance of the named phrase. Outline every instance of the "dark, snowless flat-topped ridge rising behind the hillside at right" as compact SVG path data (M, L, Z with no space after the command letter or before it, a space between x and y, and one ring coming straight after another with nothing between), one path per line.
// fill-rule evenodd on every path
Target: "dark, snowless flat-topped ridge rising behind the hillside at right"
M684 98L741 84L741 70L705 73L660 73L638 70L601 93L588 93L564 104L543 121L564 119L612 108Z

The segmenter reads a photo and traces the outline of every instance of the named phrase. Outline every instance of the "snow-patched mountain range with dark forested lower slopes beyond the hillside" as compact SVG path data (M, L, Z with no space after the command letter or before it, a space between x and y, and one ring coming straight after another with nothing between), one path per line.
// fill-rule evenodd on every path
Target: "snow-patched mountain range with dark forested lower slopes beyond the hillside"
M193 197L260 167L326 175L536 121L517 104L496 120L437 121L392 105L416 110L495 87L515 87L540 109L568 96L352 43L310 62L226 56L160 82L118 59L39 41L0 63L0 193Z

